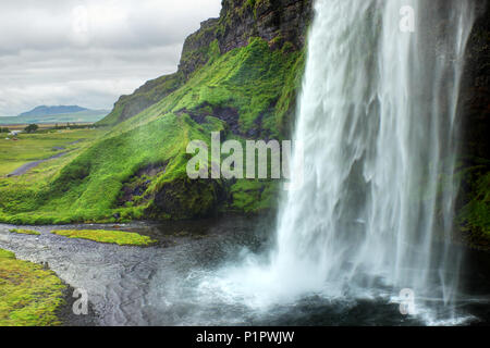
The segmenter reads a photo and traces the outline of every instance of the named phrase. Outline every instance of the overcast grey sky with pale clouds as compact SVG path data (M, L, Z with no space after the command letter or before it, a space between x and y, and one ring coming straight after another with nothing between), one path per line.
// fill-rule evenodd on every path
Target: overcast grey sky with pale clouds
M0 0L0 116L34 107L111 109L176 71L221 0Z

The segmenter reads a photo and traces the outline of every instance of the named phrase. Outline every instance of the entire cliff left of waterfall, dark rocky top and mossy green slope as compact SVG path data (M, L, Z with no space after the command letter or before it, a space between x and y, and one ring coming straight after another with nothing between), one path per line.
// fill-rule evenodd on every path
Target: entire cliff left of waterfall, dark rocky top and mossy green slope
M115 222L256 212L275 203L269 181L193 181L192 140L283 139L304 69L309 1L223 1L184 45L175 74L123 96L108 132L42 175L0 178L0 220Z

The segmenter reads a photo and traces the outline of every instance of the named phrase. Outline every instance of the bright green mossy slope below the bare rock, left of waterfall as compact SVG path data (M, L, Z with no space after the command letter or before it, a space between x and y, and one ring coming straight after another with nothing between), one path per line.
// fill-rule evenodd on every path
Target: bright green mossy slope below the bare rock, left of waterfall
M186 147L195 139L209 145L211 132L222 132L222 140L284 138L303 52L271 50L267 41L253 38L225 54L213 41L208 54L209 61L185 85L85 148L20 177L0 179L0 221L124 222L273 207L278 185L271 181L191 181ZM179 85L177 76L167 78L163 85ZM154 94L151 86L140 91ZM101 123L112 123L112 117L118 119L112 113ZM158 165L161 170L151 173Z

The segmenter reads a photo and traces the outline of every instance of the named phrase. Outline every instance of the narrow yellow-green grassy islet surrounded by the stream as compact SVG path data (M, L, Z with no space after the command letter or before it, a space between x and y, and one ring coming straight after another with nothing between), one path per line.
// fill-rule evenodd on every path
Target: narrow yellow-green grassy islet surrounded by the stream
M68 238L88 239L98 243L117 244L119 246L149 246L156 240L137 233L103 229L64 229L51 233Z

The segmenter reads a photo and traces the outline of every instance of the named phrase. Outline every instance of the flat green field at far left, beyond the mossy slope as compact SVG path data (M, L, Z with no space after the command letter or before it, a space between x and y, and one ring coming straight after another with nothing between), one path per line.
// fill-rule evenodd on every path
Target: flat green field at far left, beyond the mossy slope
M82 144L97 138L101 133L100 129L50 130L38 134L20 134L16 137L17 140L2 134L0 138L0 176L5 176L28 162L73 151Z

